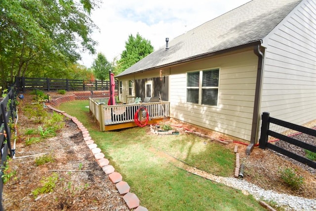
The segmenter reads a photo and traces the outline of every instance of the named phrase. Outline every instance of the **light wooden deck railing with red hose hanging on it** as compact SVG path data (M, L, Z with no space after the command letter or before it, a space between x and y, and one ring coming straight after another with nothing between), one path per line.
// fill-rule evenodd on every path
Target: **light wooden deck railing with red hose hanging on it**
M149 119L159 119L169 117L170 102L154 102L154 103L137 103L123 105L107 105L104 98L89 98L89 109L95 120L100 123L100 129L103 131L104 126L134 122L134 116L141 107L146 108ZM146 118L145 109L138 112L138 118ZM101 124L102 123L102 124Z

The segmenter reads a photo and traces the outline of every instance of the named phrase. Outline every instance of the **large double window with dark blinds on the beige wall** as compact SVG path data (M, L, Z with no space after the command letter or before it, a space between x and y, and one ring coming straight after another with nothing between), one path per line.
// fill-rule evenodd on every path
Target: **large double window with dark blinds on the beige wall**
M187 102L217 106L218 82L219 69L187 73Z

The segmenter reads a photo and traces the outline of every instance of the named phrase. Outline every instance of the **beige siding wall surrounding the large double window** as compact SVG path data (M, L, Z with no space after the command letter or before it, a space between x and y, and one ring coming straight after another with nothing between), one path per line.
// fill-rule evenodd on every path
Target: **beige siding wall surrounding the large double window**
M250 50L171 68L171 117L249 141L257 62ZM186 103L186 73L213 68L220 69L218 106Z

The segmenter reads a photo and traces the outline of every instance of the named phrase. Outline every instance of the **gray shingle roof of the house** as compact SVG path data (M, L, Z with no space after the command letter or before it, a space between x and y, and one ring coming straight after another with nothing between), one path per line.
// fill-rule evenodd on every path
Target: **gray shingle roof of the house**
M252 0L169 41L119 76L217 52L267 36L302 0Z

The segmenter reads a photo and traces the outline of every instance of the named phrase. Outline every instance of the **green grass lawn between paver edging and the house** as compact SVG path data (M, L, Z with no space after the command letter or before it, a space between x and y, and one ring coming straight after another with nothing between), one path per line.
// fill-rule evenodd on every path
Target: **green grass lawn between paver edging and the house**
M216 175L233 176L235 155L231 150L193 134L150 135L146 127L100 132L85 107L88 104L87 100L72 101L58 109L77 117L89 130L142 206L157 211L265 210L252 196L179 169L168 156L160 156L169 155Z

